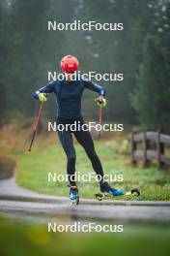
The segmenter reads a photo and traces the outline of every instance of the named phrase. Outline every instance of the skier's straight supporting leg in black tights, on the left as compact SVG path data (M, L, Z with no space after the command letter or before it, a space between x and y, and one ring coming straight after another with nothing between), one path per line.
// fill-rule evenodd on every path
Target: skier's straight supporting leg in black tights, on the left
M75 179L75 149L73 147L73 140L71 133L68 131L58 131L58 137L60 139L60 142L66 152L67 158L68 158L68 164L67 164L67 173L70 181L71 186L75 186L76 182Z

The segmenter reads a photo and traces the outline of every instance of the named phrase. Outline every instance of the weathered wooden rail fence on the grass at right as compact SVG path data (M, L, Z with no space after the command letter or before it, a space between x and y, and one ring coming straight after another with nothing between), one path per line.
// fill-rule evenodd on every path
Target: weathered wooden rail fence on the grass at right
M131 134L131 163L143 160L143 167L148 167L151 160L155 159L157 166L170 165L170 156L165 154L165 145L170 145L170 136L157 132L144 132ZM152 142L155 142L155 148ZM142 143L142 149L137 145Z

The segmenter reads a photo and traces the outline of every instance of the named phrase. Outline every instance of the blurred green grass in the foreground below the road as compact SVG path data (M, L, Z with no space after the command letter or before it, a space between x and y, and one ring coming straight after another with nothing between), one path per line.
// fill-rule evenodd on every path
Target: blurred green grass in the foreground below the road
M0 252L4 256L169 255L169 225L143 223L124 227L123 233L48 233L47 224L0 217Z

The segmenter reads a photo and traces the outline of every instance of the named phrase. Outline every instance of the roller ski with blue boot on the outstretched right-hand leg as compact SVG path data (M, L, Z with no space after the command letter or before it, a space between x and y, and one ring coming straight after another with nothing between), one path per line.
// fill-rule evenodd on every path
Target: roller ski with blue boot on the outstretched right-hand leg
M100 182L100 191L99 193L95 194L97 200L102 201L105 198L110 197L124 197L126 200L129 200L133 197L140 196L140 192L138 188L133 188L129 192L125 192L122 189L114 188L110 186L106 181Z

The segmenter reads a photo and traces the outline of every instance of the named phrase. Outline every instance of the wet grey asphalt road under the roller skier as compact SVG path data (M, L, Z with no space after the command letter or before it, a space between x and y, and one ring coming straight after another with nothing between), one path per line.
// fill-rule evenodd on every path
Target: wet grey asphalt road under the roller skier
M72 208L67 197L42 195L20 188L14 177L0 180L0 212L14 216L69 216L72 219L105 219L170 222L170 202L81 200Z

